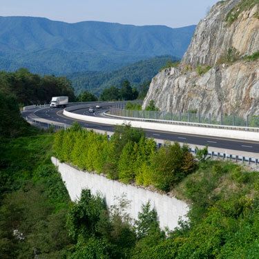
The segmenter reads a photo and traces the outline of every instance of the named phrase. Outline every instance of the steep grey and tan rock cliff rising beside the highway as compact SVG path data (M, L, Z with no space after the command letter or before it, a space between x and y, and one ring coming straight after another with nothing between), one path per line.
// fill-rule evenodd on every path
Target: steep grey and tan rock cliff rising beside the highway
M220 1L200 21L176 68L153 78L143 108L259 115L258 0Z

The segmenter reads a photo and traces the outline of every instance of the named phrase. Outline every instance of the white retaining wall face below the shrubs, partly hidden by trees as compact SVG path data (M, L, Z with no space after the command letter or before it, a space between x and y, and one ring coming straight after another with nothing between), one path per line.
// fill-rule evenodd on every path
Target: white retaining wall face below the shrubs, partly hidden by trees
M51 160L58 167L61 178L65 182L70 198L73 201L80 198L82 189L90 189L93 194L102 193L106 198L108 207L117 204L116 197L120 198L125 195L126 200L131 202L127 208L127 213L135 220L141 211L142 204L146 204L150 200L151 207L154 207L157 211L161 229L168 227L173 230L178 227L180 218L186 220L189 207L181 200L129 184L108 180L103 175L79 171L66 163L59 162L55 157L52 157Z

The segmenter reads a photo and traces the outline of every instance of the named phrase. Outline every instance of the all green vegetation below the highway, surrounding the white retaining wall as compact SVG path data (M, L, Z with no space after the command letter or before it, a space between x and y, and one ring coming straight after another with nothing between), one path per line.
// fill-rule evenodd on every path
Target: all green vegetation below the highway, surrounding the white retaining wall
M21 118L22 89L0 91L0 258L258 258L257 171L210 160L207 148L195 157L177 143L157 148L127 125L111 140L79 124L40 131ZM52 155L175 195L190 204L189 220L165 233L151 204L131 222L126 200L108 211L104 198L84 190L71 202Z

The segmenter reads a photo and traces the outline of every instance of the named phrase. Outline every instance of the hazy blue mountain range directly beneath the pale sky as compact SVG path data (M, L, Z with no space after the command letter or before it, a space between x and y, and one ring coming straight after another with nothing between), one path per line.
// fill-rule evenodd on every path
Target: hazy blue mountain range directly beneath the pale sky
M158 55L182 57L195 26L131 26L39 17L0 17L0 70L60 75L111 71Z

